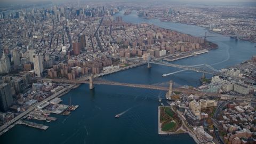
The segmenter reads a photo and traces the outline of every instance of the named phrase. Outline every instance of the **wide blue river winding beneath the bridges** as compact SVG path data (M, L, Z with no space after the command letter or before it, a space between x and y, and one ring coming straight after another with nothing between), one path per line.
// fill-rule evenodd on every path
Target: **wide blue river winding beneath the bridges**
M126 22L140 23L145 19L139 18L132 12L124 16L124 10L114 15L122 16ZM145 20L148 22L148 20ZM161 22L159 19L150 20L152 24L177 30L180 33L192 36L203 36L202 27L185 25L173 22ZM218 35L208 33L208 35ZM255 43L236 40L230 37L212 37L209 41L219 45L219 49L174 61L178 65L198 65L207 63L216 69L227 68L256 54ZM120 71L115 74L103 76L115 82L154 84L172 80L181 85L198 86L201 83L202 73L196 71L182 71L173 75L162 77L163 74L173 73L181 69L146 65ZM206 75L210 78L212 75ZM0 137L0 143L195 143L188 134L158 135L157 106L158 95L165 99L165 91L139 89L124 86L95 85L89 90L88 84L82 84L68 94L63 95L62 103L79 105L76 111L69 116L52 114L57 121L31 120L50 126L47 130L39 130L26 125L16 125ZM121 117L115 115L126 111Z

